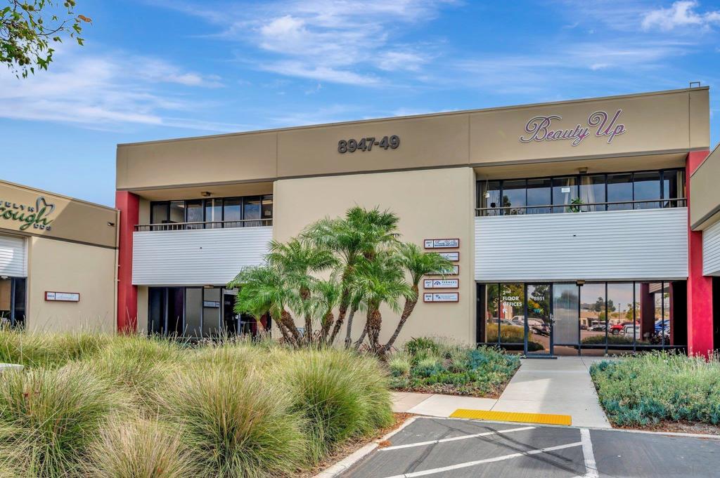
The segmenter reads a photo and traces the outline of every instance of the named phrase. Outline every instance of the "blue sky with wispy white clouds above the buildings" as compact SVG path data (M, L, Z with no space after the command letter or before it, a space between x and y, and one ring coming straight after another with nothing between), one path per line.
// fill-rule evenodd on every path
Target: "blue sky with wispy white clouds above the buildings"
M1 3L1 1L0 1ZM711 87L720 1L78 0L85 47L0 69L0 178L112 205L115 145Z

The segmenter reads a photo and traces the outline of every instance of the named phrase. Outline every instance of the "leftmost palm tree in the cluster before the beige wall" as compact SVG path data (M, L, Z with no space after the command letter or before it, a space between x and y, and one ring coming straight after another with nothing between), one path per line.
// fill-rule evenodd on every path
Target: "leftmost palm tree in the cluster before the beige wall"
M228 283L228 288L240 289L235 297L235 313L249 313L256 318L270 313L283 338L290 344L300 343L300 331L287 311L299 298L277 267L247 267Z

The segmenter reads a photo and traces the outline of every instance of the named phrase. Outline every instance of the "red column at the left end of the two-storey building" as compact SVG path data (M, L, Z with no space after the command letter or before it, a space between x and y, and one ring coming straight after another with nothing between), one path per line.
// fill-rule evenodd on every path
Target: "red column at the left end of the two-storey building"
M140 198L127 191L115 192L120 210L120 244L117 254L117 331L138 330L138 288L132 285L132 232L140 220Z

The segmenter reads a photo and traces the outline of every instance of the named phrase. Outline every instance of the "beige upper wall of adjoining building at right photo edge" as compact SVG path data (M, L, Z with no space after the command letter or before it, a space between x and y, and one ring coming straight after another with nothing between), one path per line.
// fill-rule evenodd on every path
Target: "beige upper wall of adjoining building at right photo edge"
M707 229L720 219L720 145L690 176L690 226Z

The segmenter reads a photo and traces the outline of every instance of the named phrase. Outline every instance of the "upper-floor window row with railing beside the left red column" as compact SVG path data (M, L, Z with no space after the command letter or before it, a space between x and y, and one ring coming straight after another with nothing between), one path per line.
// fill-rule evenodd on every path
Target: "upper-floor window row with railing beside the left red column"
M272 226L272 195L150 203L147 230Z

